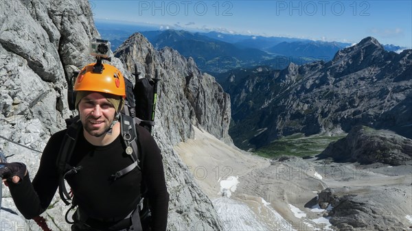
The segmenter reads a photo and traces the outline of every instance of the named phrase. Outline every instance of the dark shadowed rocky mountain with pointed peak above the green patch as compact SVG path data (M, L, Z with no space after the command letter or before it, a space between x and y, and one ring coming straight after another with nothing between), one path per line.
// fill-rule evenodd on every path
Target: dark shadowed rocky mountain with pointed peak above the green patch
M385 51L371 37L342 49L330 62L231 73L223 84L232 99L229 133L243 148L299 132L350 132L354 125L412 138L411 73L412 50Z

